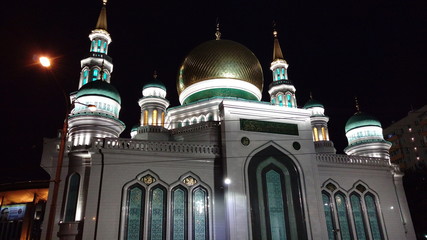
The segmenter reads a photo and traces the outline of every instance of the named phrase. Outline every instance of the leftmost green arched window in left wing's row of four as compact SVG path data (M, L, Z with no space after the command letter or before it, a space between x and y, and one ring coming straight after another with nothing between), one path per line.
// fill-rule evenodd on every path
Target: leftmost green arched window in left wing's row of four
M126 239L142 239L145 191L135 185L128 189L128 212L126 221Z

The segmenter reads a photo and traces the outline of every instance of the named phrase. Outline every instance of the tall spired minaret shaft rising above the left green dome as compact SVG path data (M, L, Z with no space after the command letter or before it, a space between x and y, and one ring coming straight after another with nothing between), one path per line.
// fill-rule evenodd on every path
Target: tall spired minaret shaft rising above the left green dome
M110 82L113 72L112 59L108 54L108 46L111 43L110 34L107 32L107 0L103 0L101 13L96 27L89 34L89 57L81 61L79 88L96 80Z

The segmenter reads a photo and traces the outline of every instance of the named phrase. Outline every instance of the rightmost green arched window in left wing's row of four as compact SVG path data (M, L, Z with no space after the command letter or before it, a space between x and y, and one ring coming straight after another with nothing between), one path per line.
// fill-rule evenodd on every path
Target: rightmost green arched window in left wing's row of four
M193 239L209 239L208 232L208 193L202 187L193 190Z

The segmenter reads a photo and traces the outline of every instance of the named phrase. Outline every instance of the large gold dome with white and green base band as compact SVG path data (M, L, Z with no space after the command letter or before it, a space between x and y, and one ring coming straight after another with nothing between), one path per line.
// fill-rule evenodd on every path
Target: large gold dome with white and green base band
M220 83L224 80L228 80L225 85ZM234 85L247 87L236 89L230 85L233 80ZM199 84L201 82L204 84ZM248 48L230 40L211 40L194 48L185 58L179 70L177 90L181 103L215 96L260 100L263 82L261 64ZM197 89L188 92L194 85ZM186 89L188 93L182 97Z

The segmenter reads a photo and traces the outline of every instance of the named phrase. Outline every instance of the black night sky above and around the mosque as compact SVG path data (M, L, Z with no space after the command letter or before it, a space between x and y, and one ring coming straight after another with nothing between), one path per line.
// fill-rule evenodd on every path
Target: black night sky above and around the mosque
M101 9L100 0L11 2L0 10L2 182L47 177L38 167L43 137L56 136L62 126L60 89L77 90L80 60L89 53L88 34ZM355 96L361 110L379 118L383 127L426 104L425 0L110 0L107 12L111 83L121 93L120 119L128 126L122 137L129 137L129 128L138 122L137 100L154 70L167 85L171 105L178 105L179 65L191 49L214 38L217 17L222 38L258 57L266 101L272 81L271 26L277 22L298 105L310 92L325 105L340 153ZM52 74L34 64L41 54L56 58Z

